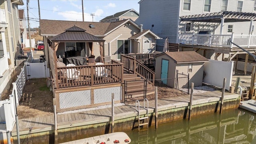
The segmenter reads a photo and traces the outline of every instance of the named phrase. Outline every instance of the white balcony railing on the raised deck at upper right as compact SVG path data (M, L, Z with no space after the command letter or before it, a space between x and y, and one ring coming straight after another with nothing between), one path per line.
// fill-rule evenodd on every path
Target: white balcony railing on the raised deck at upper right
M256 35L251 34L179 34L178 43L203 45L203 46L221 46L234 48L230 40L242 47L256 46Z

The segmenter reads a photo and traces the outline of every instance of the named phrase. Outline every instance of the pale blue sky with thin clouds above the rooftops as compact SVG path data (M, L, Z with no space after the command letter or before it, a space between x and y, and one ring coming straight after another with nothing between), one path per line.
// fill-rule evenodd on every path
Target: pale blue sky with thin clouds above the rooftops
M106 16L129 10L133 8L139 12L140 0L83 0L84 21L99 22ZM24 5L18 6L23 9L27 18L27 0L23 0ZM29 20L30 28L39 26L38 0L29 0ZM82 21L82 0L39 0L41 19L46 20L70 20ZM27 26L28 27L28 26Z

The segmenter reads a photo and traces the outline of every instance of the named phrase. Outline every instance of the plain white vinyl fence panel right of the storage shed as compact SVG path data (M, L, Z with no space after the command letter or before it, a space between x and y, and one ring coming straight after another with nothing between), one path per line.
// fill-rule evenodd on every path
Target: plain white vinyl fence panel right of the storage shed
M226 78L226 90L229 90L229 87L232 83L232 72L233 72L234 62L224 62L218 60L209 60L204 63L204 72L206 76L203 79L203 82L213 86L222 88L223 79Z

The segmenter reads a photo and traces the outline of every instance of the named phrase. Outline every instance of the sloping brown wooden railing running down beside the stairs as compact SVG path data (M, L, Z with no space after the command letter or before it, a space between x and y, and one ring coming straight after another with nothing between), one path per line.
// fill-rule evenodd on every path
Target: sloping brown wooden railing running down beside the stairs
M144 80L148 80L154 85L155 73L142 64L139 60L134 57L121 54L121 62L124 64L124 69L129 73L138 74Z

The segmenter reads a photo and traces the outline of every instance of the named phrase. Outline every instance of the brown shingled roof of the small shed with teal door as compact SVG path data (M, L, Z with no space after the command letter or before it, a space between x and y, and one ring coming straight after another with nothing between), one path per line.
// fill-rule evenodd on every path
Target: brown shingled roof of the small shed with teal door
M161 56L163 54L166 54L170 58L172 58L177 64L179 63L192 63L192 62L206 62L208 61L207 58L204 56L201 56L200 54L194 52L194 51L188 51L188 52L162 52L161 54L158 54L154 57Z

